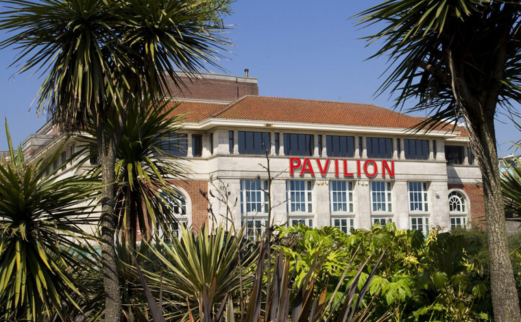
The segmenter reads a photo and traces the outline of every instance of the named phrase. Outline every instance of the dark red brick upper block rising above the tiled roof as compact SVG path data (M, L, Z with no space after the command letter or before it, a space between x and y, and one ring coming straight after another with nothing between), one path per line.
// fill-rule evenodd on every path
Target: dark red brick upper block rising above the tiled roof
M187 88L181 86L182 90L179 90L173 82L169 82L175 97L210 101L235 101L245 95L258 95L256 83L200 78L194 78L190 82L186 77L183 77L183 82Z

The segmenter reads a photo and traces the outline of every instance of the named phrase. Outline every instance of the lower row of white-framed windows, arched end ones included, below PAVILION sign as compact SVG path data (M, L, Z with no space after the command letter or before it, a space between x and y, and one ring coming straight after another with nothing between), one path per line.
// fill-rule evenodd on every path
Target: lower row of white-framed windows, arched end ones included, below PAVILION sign
M390 203L391 190L390 182L372 182L372 197L373 210L378 209L383 212L391 212ZM241 180L241 212L244 217L248 215L262 215L268 212L267 209L267 180ZM298 213L313 212L312 208L312 194L311 182L304 180L290 180L287 183L288 190L288 211L290 213L297 213L291 215L289 218L289 225L306 225L313 227L313 218L299 217ZM426 192L428 190L427 184L424 182L409 182L409 203L411 210L418 210L423 207L427 210ZM354 228L354 212L353 209L353 182L346 181L332 181L330 182L330 207L331 212L348 213L348 216L334 215L331 218L331 225L338 227L341 231L348 233ZM380 196L380 197L378 197ZM173 213L176 214L180 222L186 223L186 202L184 198L179 195L178 201L171 201ZM450 210L450 226L465 226L467 224L465 214L465 198L461 193L452 191L449 194L449 210ZM461 214L455 216L455 214ZM419 230L424 234L429 231L429 217L428 216L411 216L410 225L411 230ZM391 223L391 215L372 216L372 224L385 225ZM243 223L244 224L244 223ZM246 220L246 234L254 237L260 236L265 232L267 226L267 219L265 218L247 218ZM175 232L178 231L178 225L172 228Z

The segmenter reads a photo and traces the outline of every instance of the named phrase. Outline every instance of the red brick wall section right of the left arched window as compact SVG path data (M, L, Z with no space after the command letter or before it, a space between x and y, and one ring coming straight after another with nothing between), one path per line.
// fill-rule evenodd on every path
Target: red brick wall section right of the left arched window
M208 223L208 201L200 193L200 191L208 193L208 181L188 180L184 182L175 180L172 184L183 188L189 194L190 200L186 200L186 203L191 202L192 204L192 227L193 230L197 231L202 225Z

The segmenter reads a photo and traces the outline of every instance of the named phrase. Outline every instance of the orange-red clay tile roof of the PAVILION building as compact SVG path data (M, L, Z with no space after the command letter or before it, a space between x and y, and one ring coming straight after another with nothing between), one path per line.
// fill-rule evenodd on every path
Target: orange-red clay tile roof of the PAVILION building
M187 113L188 122L212 118L408 129L424 119L372 104L264 96L245 96L228 105L185 101L177 110Z

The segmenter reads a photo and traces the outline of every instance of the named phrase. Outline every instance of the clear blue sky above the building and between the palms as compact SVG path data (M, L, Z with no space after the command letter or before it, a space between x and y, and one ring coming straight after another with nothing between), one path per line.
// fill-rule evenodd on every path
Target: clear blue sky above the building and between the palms
M364 61L376 45L366 48L359 40L367 29L358 30L350 17L380 0L324 2L238 0L234 14L224 23L233 25L232 53L220 62L225 71L215 73L258 78L259 94L274 97L321 99L374 103L391 108L389 93L374 97L383 82L380 74L385 58ZM0 38L5 34L0 33ZM29 107L38 92L40 80L29 75L16 75L8 68L12 51L0 51L0 110L8 118L14 144L45 124L46 115L37 117ZM3 120L0 150L7 149ZM521 134L506 116L496 121L498 154L511 153L511 141L521 140Z

